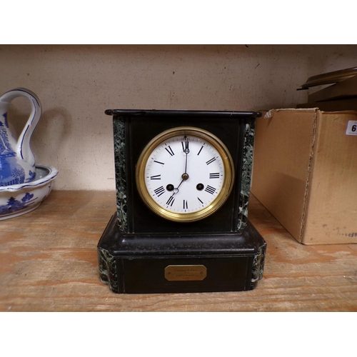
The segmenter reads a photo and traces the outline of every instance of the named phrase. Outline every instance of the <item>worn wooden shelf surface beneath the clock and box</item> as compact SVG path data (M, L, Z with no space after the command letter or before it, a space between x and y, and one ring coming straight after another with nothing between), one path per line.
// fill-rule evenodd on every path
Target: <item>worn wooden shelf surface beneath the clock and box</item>
M249 209L268 244L253 291L115 294L96 253L115 193L52 191L0 221L0 311L357 311L357 245L303 246L256 198Z

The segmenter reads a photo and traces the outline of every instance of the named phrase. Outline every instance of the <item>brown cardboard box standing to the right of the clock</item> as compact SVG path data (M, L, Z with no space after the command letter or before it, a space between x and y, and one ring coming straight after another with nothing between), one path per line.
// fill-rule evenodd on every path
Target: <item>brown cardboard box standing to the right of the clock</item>
M357 111L318 109L272 110L256 121L251 191L301 243L357 243L353 121Z

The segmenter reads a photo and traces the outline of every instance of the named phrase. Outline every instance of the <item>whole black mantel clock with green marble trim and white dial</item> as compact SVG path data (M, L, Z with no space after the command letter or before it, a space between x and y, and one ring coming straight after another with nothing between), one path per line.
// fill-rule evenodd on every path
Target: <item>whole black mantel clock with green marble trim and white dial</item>
M247 111L106 111L117 211L98 243L116 293L243 291L266 243L248 221L254 124Z

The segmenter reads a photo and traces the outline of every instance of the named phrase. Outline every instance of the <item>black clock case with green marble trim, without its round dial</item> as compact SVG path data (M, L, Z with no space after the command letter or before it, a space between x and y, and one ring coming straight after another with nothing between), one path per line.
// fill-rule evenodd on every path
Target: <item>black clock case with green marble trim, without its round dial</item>
M117 212L99 244L101 281L116 293L242 291L262 278L266 243L248 221L256 112L109 110L114 120ZM179 126L211 132L226 145L236 171L233 190L200 221L166 220L136 189L141 151Z

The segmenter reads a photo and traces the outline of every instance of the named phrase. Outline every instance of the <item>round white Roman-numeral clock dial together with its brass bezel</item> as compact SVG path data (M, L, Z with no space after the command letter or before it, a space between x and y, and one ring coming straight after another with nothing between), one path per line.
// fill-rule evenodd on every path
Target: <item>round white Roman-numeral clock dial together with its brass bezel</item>
M141 198L171 221L211 215L233 187L233 161L226 146L198 128L178 127L156 136L136 167Z

